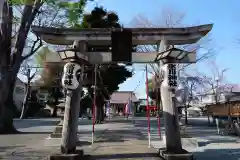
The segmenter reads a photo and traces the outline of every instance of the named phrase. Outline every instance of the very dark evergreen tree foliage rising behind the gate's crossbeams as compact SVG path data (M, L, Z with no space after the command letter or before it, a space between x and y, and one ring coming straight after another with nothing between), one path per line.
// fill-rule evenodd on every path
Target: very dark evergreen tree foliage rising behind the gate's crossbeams
M119 18L116 13L108 13L103 7L95 7L91 14L84 15L79 28L120 28ZM89 46L91 51L109 51L110 46ZM118 85L123 83L132 73L125 66L118 64L101 65L99 67L100 78L104 88L109 94L118 90ZM90 71L89 74L92 74Z

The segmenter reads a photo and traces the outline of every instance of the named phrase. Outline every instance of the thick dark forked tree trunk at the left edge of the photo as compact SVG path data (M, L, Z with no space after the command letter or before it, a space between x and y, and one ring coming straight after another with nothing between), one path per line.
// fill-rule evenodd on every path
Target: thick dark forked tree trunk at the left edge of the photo
M30 26L38 13L38 9L42 3L35 5L33 11L33 5L25 5L22 13L22 19L16 38L16 44L13 52L11 52L11 33L12 33L12 7L8 8L7 12L3 13L3 17L7 16L7 21L2 23L1 43L0 43L0 133L16 133L17 130L13 125L13 117L15 114L15 104L13 103L13 91L15 87L15 81L20 65L24 60L22 52L25 46L25 41L30 29ZM1 11L2 12L2 11ZM5 19L5 20L6 20ZM3 39L2 39L3 37ZM13 45L14 46L14 45Z

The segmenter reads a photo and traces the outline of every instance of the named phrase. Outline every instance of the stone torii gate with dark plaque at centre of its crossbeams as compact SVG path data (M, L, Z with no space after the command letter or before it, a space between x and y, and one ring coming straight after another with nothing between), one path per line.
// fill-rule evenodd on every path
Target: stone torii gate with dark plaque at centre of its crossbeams
M212 24L184 28L123 28L123 29L60 29L33 26L32 31L46 43L57 45L73 45L72 49L59 51L62 59L77 58L75 63L108 64L108 63L160 63L164 79L161 85L164 126L166 132L166 148L161 152L165 158L176 157L186 153L182 149L178 117L175 104L176 66L175 63L195 63L196 53L177 48L167 48L170 45L196 43L211 29ZM114 36L115 35L115 38ZM118 35L118 36L116 36ZM124 40L117 40L121 39ZM116 38L118 37L118 38ZM130 37L130 39L129 39ZM117 44L116 44L117 43ZM111 46L112 52L88 51L88 46ZM114 45L117 45L114 46ZM129 48L137 45L157 45L158 52L133 52ZM121 50L127 48L126 50ZM117 52L116 52L117 51ZM121 53L121 56L116 55ZM123 53L127 52L127 53ZM75 58L74 58L75 57ZM54 62L54 60L53 60ZM80 67L81 68L81 67ZM81 86L83 79L80 79ZM77 120L81 87L74 88L67 99L63 135L62 153L76 152ZM73 103L75 102L75 103ZM68 108L68 109L67 109ZM65 129L64 129L65 128ZM64 134L66 130L72 133Z

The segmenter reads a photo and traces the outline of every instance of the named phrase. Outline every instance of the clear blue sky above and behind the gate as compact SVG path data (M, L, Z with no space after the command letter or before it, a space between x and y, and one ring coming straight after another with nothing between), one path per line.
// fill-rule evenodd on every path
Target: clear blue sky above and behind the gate
M96 5L91 3L87 11ZM118 13L121 23L131 25L137 15L143 15L158 24L162 9L185 14L184 24L214 23L211 39L214 41L218 53L214 59L220 68L229 68L225 74L231 83L240 83L240 12L239 0L98 0L109 11ZM237 39L239 37L239 44ZM206 63L198 65L198 70L208 72ZM141 70L126 82L120 85L121 91L133 91L136 88L138 97L145 97L145 74Z

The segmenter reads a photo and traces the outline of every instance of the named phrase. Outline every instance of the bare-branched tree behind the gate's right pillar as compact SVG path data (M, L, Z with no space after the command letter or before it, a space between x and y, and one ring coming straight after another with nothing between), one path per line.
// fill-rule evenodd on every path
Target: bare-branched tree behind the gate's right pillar
M154 28L154 27L166 27L166 28L175 28L175 27L186 27L184 25L183 20L185 18L185 13L173 10L172 8L165 8L162 10L161 18L157 20L157 23L152 23L146 17L139 15L132 20L132 25L136 27L146 27L146 28ZM188 25L189 26L189 25ZM181 49L187 51L196 51L197 52L197 63L203 62L211 57L216 55L216 49L213 47L213 41L210 36L204 37L202 40L197 42L196 44L176 46ZM169 46L173 47L173 46ZM157 52L157 45L144 45L137 48L141 52ZM201 52L198 52L200 51ZM190 64L177 64L177 74L178 77L181 76L181 73L184 74L186 67ZM149 72L153 75L152 83L153 88L156 92L159 91L162 75L160 74L160 65L159 63L149 64L150 69ZM160 93L157 93L160 94ZM160 100L161 101L161 100ZM159 101L159 102L160 102Z

